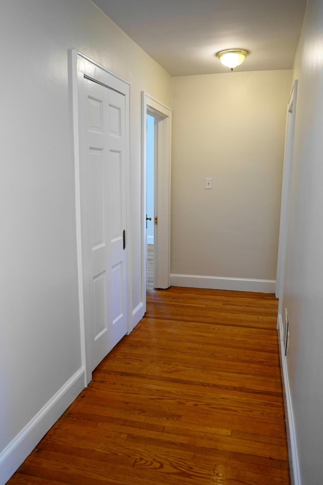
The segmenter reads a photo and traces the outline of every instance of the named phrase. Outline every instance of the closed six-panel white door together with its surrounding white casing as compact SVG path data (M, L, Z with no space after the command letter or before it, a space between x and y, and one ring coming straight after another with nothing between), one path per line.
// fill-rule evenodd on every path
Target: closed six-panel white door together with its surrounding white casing
M86 384L131 331L129 85L72 51L80 322ZM124 230L125 243L124 249Z

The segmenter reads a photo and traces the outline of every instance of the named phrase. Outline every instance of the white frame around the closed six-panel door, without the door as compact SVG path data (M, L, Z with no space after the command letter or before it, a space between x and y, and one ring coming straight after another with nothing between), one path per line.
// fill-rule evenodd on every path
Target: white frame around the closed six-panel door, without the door
M85 140L80 136L85 128L85 116L80 106L80 96L84 94L84 75L89 79L102 84L103 86L115 89L125 95L126 102L126 231L127 231L127 322L128 333L132 330L132 288L131 288L131 211L130 211L130 84L118 77L116 74L105 69L92 59L88 58L77 50L69 50L69 99L71 100L71 131L74 141L74 162L75 162L75 210L76 210L76 246L77 246L77 269L78 269L78 294L79 294L79 319L81 339L82 367L85 370L85 386L92 379L91 370L91 329L87 324L85 315L85 292L86 281L84 272L86 264L82 255L82 227L84 218L84 187L81 186L80 159L86 153Z

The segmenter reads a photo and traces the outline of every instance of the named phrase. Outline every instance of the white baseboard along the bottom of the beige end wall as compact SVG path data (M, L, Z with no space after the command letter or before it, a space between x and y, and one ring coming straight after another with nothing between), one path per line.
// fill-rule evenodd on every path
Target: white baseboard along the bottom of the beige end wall
M171 285L187 288L228 289L236 292L275 293L276 281L270 279L171 274Z

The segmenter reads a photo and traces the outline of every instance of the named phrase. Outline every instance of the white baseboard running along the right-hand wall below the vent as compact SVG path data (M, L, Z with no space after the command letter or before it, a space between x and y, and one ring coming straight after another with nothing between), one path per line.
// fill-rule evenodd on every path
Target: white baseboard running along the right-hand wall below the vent
M283 381L284 407L285 407L291 484L301 485L298 455L297 455L295 425L294 425L294 414L293 414L292 398L291 398L291 392L290 392L290 386L289 386L287 362L285 357L282 314L278 315L277 327L278 327L278 340L279 340L279 357L281 362L281 375L282 375L282 381Z

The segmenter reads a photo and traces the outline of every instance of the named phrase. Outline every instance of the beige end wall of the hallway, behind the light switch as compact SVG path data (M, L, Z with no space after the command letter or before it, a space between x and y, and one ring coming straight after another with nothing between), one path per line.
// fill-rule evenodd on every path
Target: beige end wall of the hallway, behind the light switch
M173 78L172 273L276 279L291 81L291 71Z

